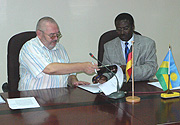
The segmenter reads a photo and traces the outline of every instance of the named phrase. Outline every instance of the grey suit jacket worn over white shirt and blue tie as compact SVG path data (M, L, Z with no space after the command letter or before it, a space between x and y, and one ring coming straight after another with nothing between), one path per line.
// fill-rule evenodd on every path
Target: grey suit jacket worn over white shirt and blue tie
M156 44L152 39L134 34L134 80L152 78L157 71ZM120 38L117 37L104 45L103 61L105 65L126 65Z

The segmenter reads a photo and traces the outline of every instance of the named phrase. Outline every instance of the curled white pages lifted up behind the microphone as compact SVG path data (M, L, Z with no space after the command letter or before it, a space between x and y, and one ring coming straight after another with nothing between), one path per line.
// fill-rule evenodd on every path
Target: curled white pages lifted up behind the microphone
M119 88L121 88L123 85L124 75L122 69L118 65L116 66L117 66L117 72L115 75L117 76L117 79L119 81ZM107 82L99 85L99 88L105 95L110 95L113 92L117 92L117 79L115 75Z

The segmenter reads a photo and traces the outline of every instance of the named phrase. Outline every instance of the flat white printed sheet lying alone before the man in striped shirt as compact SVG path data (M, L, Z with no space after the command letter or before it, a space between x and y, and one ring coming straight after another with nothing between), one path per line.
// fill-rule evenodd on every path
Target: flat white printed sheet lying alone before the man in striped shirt
M9 108L11 109L26 109L40 107L40 105L37 103L34 97L7 99L7 102Z

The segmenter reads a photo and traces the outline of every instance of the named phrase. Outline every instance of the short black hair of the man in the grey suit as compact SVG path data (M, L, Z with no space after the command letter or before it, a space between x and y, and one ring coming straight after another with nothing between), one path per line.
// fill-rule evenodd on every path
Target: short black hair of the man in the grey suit
M128 20L129 23L131 24L131 26L134 26L134 19L129 13L121 13L121 14L119 14L115 18L114 23L116 24L117 21L121 21L121 20Z

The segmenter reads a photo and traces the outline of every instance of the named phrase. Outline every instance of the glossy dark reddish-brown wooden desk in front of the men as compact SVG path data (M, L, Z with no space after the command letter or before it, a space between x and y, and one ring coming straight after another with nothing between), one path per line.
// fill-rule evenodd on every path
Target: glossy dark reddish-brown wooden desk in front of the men
M122 89L131 91L131 83L125 83ZM160 90L146 82L136 82L135 92L140 91ZM127 103L125 98L112 100L102 93L92 94L80 88L9 92L1 95L5 99L33 96L41 106L10 110L7 103L0 104L1 124L155 125L180 122L179 98L165 101L160 98L160 93L135 93L141 101L134 105Z

